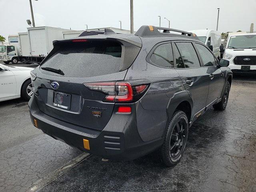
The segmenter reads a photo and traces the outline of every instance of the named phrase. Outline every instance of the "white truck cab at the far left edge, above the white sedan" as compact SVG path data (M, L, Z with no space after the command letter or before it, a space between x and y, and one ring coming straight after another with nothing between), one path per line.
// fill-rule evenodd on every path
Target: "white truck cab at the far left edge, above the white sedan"
M5 64L12 62L12 64L18 63L18 52L14 45L0 45L0 61Z

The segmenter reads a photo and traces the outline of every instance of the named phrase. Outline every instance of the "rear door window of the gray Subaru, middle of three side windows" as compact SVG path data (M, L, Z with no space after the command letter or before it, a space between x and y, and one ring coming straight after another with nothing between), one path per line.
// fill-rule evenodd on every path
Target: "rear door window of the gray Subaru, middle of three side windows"
M176 43L184 62L185 68L200 67L198 56L192 43Z

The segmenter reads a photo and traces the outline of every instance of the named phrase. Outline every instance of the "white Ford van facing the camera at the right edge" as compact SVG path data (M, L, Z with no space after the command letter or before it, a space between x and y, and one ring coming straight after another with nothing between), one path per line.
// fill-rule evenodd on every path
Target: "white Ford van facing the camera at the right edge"
M223 58L233 73L256 73L256 33L228 36Z

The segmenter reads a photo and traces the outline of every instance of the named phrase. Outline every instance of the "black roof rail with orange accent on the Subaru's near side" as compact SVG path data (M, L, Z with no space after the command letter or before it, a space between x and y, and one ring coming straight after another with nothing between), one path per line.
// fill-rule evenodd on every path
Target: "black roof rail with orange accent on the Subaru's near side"
M163 30L163 32L160 32L158 30ZM186 32L178 29L171 29L171 28L164 28L164 27L155 27L155 26L148 26L148 25L143 25L139 28L139 30L135 33L136 36L142 36L142 37L147 37L147 36L160 36L160 35L168 35L170 34L170 31L174 32L179 32L181 35L185 36L190 36L194 38L198 38L196 34L191 33L191 32Z

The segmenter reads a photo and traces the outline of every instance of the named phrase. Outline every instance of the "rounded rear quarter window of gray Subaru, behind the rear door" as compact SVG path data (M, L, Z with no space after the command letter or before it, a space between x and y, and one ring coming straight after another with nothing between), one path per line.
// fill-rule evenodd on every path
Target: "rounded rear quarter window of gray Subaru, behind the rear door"
M160 67L173 67L172 44L159 45L150 56L150 61Z

